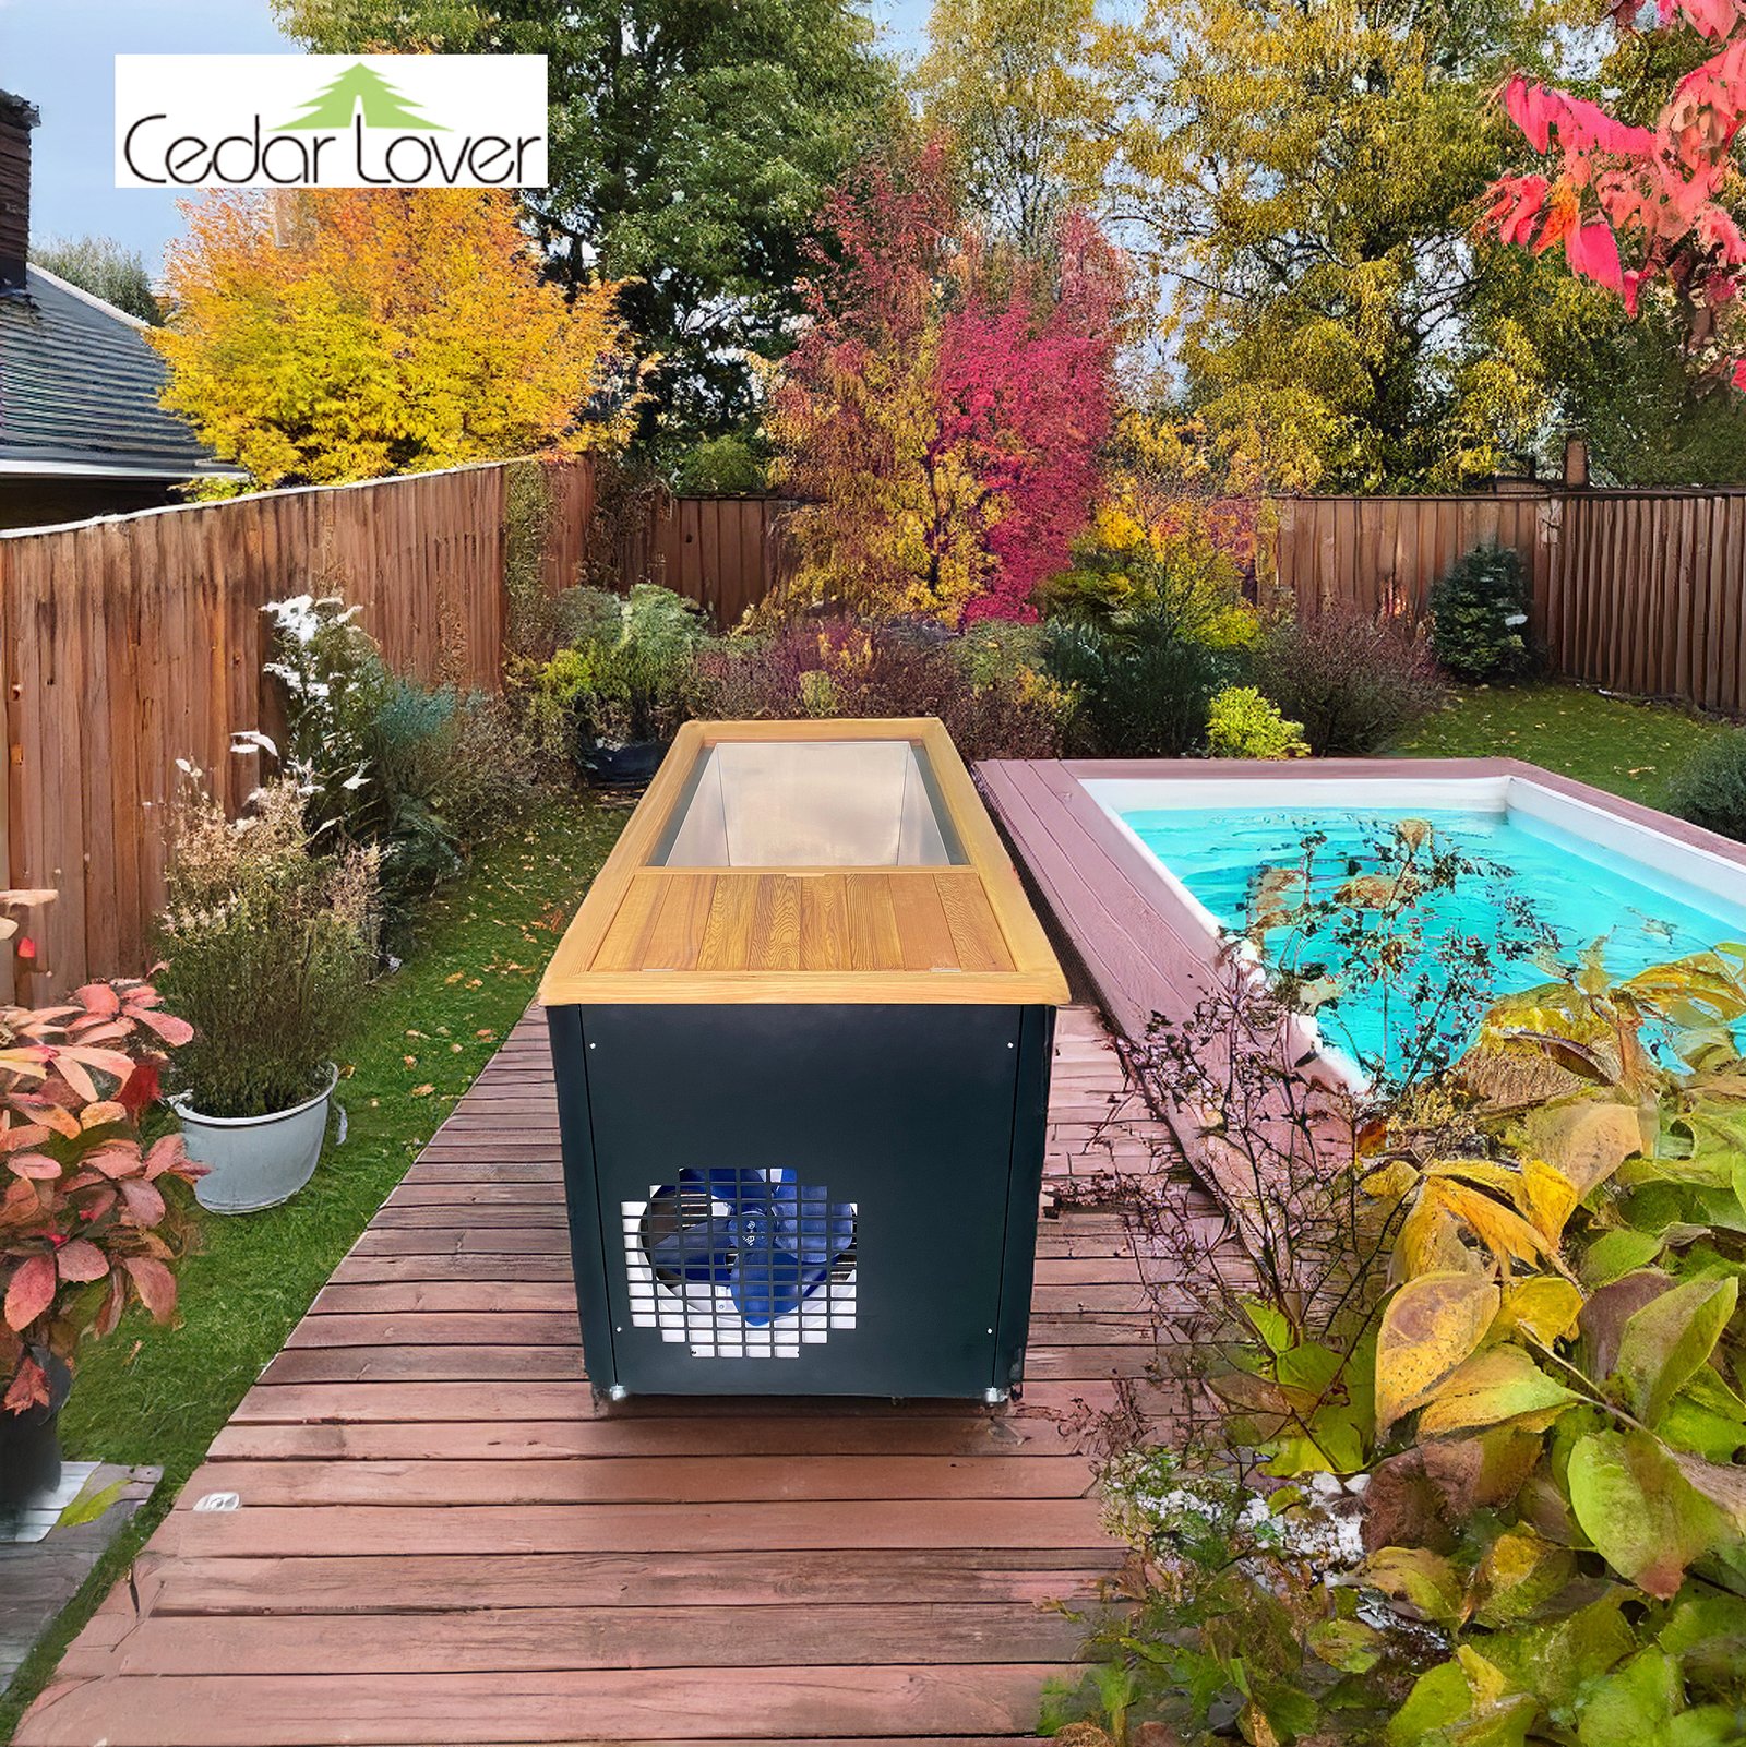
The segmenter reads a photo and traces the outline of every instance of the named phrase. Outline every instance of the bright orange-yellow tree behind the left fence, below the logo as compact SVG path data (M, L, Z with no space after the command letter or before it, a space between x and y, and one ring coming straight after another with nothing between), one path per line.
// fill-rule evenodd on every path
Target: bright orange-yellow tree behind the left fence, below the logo
M189 208L170 253L164 404L262 486L622 440L615 290L540 276L491 189L255 194Z

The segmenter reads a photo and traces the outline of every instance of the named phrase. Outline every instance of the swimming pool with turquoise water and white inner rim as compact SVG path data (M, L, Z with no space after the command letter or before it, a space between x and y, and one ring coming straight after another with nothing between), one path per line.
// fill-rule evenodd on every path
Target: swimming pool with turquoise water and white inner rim
M1384 867L1400 853L1398 828L1423 819L1435 846L1470 867L1423 900L1424 947L1396 991L1417 975L1438 977L1438 942L1452 936L1521 942L1514 957L1493 956L1494 994L1545 982L1549 952L1568 961L1599 943L1608 971L1629 977L1746 940L1746 868L1737 861L1519 776L1258 777L1223 788L1204 777L1141 777L1084 788L1211 938L1248 926L1267 868L1299 867L1309 853L1313 896L1330 896L1351 874ZM1328 924L1276 931L1265 952L1297 970L1339 957ZM1379 987L1358 987L1323 1008L1318 1024L1325 1052L1349 1069L1384 1055L1398 1036L1400 996L1389 1012Z

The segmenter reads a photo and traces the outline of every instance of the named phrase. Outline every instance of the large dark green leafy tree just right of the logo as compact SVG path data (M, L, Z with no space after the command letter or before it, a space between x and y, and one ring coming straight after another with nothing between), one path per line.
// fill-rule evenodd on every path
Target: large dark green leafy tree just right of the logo
M605 276L645 358L641 435L710 435L755 405L799 313L827 187L893 80L851 0L273 0L323 52L547 56L551 185L526 208L566 290Z

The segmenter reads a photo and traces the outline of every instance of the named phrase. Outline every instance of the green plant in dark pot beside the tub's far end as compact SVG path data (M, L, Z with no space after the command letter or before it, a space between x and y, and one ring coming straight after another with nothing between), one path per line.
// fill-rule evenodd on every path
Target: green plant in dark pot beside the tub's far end
M703 615L652 582L627 596L572 589L559 603L566 646L545 664L540 692L570 723L589 781L647 783L687 716Z

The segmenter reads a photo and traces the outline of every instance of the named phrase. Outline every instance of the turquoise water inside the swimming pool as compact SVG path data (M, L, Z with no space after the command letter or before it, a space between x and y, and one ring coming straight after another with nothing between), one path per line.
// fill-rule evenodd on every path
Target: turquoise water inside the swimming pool
M1374 872L1382 865L1377 846L1398 844L1402 821L1428 821L1440 846L1484 868L1459 875L1452 889L1424 900L1426 947L1407 980L1414 980L1414 973L1438 975L1438 938L1528 938L1529 929L1512 900L1526 903L1535 922L1552 936L1547 945L1557 956L1573 957L1601 942L1615 977L1722 942L1746 940L1746 891L1739 905L1730 905L1526 814L1424 807L1159 807L1120 818L1227 929L1248 924L1251 896L1267 868L1302 863L1309 833L1327 837L1314 851L1314 875L1316 894L1328 896L1353 872ZM1332 928L1306 933L1290 945L1300 968L1339 952ZM1271 950L1279 949L1279 936L1274 936ZM1543 959L1494 957L1489 977L1494 994L1508 994L1545 982L1547 970ZM1398 1027L1398 994L1395 1001L1393 1025ZM1379 987L1360 989L1323 1008L1320 1022L1323 1036L1358 1060L1381 1057L1391 1029L1384 1022Z

